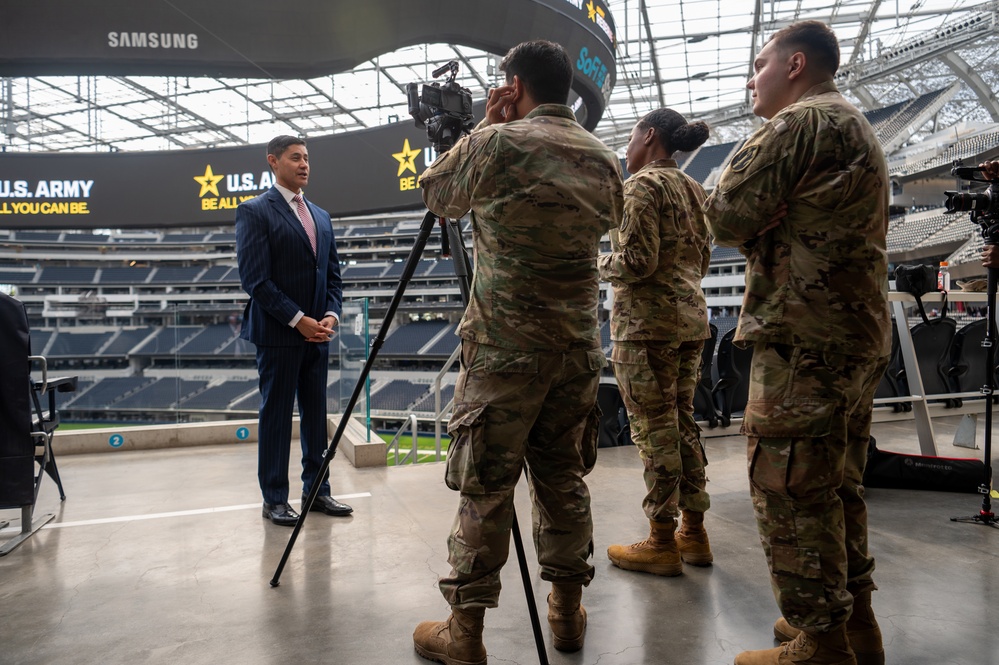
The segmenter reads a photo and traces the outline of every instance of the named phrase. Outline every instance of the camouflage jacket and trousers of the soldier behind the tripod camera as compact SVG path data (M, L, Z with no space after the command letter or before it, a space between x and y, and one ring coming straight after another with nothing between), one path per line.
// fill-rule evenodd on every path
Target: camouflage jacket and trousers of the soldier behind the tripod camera
M480 126L420 182L435 213L474 213L475 274L448 425L446 481L461 499L441 592L453 606L496 606L525 460L541 577L587 584L583 475L596 459L605 364L596 257L601 236L620 224L620 163L568 107L542 104L523 120Z

